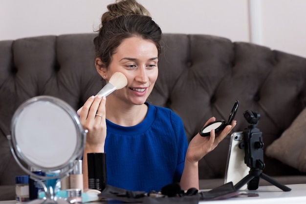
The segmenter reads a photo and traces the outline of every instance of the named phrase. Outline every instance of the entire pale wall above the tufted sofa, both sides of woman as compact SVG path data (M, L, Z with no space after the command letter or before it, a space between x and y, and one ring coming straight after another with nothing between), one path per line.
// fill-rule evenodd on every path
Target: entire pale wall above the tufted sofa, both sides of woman
M306 57L305 0L138 1L148 8L164 33L217 35ZM0 0L0 40L93 32L106 6L112 2ZM257 5L253 30L250 30L249 5L253 9ZM259 37L251 38L251 31Z

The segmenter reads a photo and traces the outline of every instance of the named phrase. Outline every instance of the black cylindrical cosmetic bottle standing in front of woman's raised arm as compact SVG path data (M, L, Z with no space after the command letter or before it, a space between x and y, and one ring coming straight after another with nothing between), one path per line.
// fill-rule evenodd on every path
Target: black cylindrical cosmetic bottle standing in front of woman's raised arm
M106 154L87 153L88 188L103 191L107 185Z

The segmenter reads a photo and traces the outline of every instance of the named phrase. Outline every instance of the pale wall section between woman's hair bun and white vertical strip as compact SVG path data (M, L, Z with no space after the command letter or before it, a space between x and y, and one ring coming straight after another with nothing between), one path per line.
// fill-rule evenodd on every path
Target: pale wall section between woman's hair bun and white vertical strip
M139 0L164 33L218 35L249 41L247 0ZM229 9L231 8L231 9Z

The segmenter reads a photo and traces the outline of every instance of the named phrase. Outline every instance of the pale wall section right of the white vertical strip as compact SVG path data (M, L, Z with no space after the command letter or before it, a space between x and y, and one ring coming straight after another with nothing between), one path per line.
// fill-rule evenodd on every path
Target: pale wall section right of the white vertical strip
M306 0L262 0L262 44L306 57Z

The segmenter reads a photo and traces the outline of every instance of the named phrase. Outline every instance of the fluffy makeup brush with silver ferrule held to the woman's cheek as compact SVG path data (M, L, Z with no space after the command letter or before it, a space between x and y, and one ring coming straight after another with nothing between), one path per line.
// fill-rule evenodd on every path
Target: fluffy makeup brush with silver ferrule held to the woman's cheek
M128 79L121 72L115 72L109 79L109 82L97 93L97 95L109 96L112 92L122 89L128 84ZM83 106L82 106L83 107ZM77 111L80 115L82 107Z

